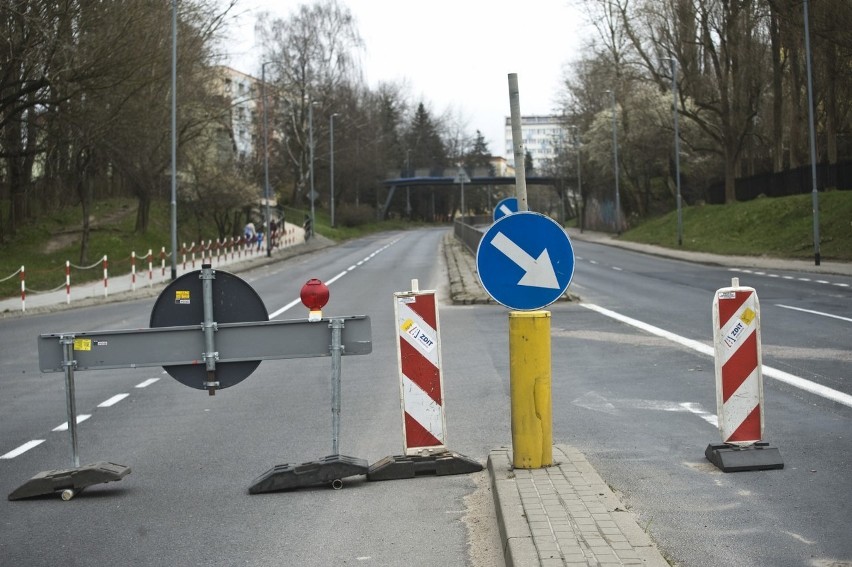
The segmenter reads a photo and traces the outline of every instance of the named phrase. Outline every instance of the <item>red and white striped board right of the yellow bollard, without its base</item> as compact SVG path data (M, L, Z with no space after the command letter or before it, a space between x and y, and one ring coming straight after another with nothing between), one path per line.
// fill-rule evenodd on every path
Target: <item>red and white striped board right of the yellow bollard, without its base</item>
M722 442L750 446L763 438L760 304L754 288L716 291L713 299L716 405Z

